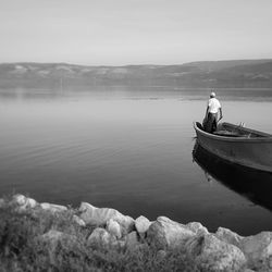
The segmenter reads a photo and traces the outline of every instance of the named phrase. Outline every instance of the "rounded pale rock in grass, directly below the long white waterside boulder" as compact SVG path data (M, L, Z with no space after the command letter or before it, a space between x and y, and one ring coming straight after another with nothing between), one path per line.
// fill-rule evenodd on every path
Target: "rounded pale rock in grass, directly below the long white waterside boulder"
M116 238L104 228L97 227L87 239L89 246L108 248L114 246Z

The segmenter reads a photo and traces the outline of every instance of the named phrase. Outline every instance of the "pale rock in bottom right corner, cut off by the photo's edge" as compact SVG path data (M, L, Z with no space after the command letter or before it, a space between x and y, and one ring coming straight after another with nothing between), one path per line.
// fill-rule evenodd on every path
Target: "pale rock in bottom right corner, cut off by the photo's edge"
M240 248L250 269L272 271L272 232L261 232L242 239Z

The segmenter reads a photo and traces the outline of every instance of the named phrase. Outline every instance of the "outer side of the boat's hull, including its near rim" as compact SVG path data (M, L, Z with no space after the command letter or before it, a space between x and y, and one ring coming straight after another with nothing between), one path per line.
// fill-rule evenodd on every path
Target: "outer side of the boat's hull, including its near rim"
M198 144L233 163L272 172L272 137L224 137L203 132L194 124Z

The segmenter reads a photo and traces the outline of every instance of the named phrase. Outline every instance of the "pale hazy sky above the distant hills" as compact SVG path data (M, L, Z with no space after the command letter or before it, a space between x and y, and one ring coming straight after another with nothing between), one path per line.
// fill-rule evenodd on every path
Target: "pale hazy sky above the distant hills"
M272 58L272 0L0 0L0 62Z

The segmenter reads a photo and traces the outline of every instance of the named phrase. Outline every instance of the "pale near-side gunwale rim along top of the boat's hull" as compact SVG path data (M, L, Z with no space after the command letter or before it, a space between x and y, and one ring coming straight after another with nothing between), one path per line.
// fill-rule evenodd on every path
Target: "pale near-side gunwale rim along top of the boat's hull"
M222 136L222 135L217 135L217 134L210 134L207 133L202 129L200 129L197 126L197 122L194 122L194 128L196 129L196 132L200 133L201 135L206 136L207 138L210 139L218 139L218 140L223 140L223 141L238 141L238 143L272 143L272 135L271 136L267 136L267 137L230 137L230 136ZM256 131L258 132L258 131Z

